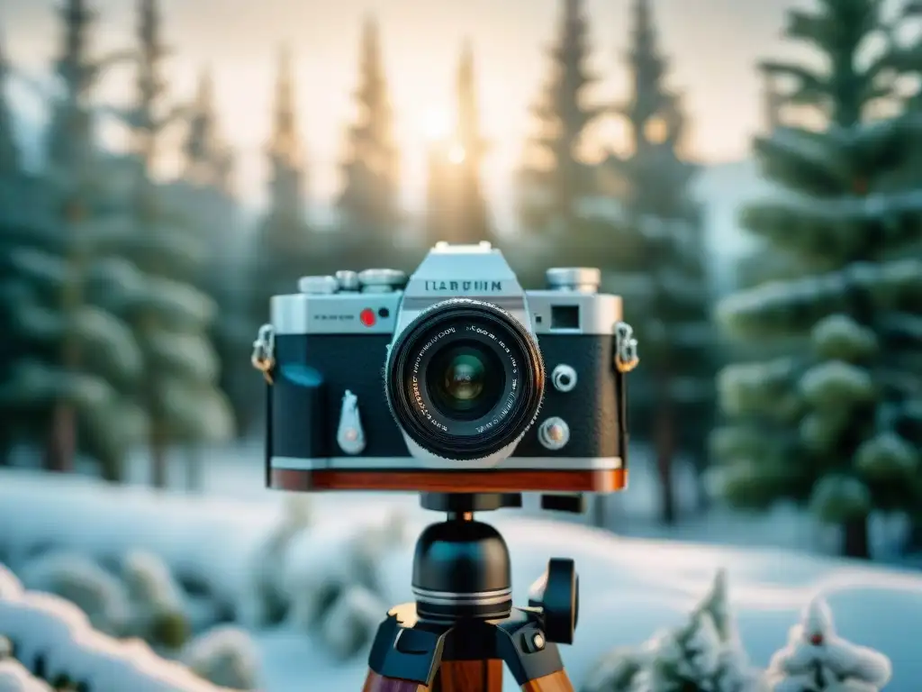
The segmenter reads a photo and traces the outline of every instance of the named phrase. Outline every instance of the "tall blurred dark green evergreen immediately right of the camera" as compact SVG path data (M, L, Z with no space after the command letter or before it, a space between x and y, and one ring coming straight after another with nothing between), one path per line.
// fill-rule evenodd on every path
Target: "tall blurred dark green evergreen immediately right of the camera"
M703 214L691 197L695 167L680 157L685 116L666 84L667 60L656 46L649 0L635 0L628 58L632 93L620 108L632 151L609 158L621 179L629 223L614 233L609 260L619 269L625 316L645 344L643 389L633 425L652 439L662 518L676 519L672 469L687 452L699 476L714 419L716 333L705 260ZM703 491L700 492L703 496Z

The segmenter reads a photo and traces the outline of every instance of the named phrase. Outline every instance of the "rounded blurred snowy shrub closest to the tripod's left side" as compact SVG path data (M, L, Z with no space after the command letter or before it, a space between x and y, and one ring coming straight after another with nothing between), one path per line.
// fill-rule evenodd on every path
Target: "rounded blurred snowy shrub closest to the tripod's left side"
M386 612L387 606L378 596L364 587L351 586L326 611L320 636L326 648L345 661L372 642Z

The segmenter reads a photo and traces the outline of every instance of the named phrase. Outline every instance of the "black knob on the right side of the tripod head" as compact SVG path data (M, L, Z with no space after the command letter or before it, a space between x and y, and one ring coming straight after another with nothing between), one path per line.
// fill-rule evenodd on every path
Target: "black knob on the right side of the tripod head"
M548 641L573 644L579 620L579 575L573 560L551 557L547 570L528 591L528 605L541 609Z

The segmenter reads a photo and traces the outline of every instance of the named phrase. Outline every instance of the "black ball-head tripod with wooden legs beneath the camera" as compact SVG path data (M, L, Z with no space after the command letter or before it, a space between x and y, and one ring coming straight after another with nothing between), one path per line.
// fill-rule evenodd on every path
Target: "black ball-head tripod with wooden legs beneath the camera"
M506 665L522 692L573 692L557 644L572 644L579 610L573 560L553 558L527 608L512 603L509 551L475 511L521 507L520 494L427 494L447 520L421 534L415 603L378 627L362 692L502 692Z

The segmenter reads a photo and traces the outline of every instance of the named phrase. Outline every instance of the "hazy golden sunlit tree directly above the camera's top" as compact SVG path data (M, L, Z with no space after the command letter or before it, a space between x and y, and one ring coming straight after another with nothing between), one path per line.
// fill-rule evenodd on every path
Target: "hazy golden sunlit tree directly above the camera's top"
M426 245L495 243L480 171L487 143L480 134L474 55L466 43L457 75L457 122L452 137L429 152Z

